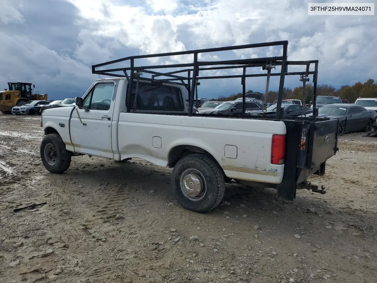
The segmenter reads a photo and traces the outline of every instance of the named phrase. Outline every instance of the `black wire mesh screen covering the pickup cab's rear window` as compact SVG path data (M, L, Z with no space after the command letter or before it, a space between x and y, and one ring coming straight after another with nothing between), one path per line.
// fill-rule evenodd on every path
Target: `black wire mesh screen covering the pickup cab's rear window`
M135 78L127 107L133 113L188 114L189 91L185 85Z

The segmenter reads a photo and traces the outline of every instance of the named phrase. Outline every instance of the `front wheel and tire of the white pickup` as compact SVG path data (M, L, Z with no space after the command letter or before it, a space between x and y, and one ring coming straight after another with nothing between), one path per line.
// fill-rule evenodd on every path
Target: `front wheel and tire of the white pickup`
M69 168L71 153L58 134L45 135L40 147L44 167L54 174L60 174Z

